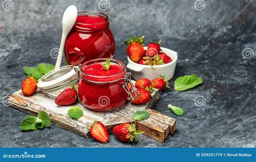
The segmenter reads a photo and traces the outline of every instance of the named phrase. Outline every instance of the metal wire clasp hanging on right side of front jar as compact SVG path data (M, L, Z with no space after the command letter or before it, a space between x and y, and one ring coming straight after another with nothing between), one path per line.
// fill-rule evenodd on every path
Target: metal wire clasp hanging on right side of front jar
M123 88L125 90L125 92L132 98L132 99L136 99L139 96L139 92L136 90L135 86L133 85L133 83L131 82L131 76L132 74L130 72L126 72L126 74L124 75L124 83L123 83ZM135 96L132 97L132 92L129 90L128 87L128 83L131 84L132 86L132 92L135 93Z

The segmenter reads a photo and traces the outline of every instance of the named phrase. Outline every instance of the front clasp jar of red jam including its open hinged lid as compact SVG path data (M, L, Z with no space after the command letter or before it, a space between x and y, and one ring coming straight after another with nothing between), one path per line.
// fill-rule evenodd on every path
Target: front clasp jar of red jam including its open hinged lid
M109 69L103 67L107 64L106 60L109 60ZM37 87L42 91L54 91L77 81L80 102L94 111L118 109L125 104L128 96L137 98L139 95L124 63L106 58L92 59L79 66L60 67L44 75ZM137 95L132 97L134 91Z

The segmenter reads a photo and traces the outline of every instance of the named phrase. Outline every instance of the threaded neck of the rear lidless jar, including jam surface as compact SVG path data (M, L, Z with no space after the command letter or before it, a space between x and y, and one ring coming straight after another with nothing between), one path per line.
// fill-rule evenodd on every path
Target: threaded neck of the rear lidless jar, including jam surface
M109 17L93 11L79 12L73 26L73 29L82 32L99 32L107 28L109 28Z

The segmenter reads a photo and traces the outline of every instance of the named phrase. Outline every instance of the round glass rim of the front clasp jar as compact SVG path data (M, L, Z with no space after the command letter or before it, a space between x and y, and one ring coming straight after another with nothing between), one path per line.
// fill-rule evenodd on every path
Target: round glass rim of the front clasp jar
M87 60L87 62L83 63L82 66L80 66L80 73L82 74L82 77L91 77L91 78L113 78L113 77L117 77L119 75L122 75L123 73L125 73L126 71L126 66L123 62L121 62L120 60L117 59L110 59L110 62L116 65L120 65L120 67L122 68L122 70L114 75L110 75L110 76L94 76L94 75L89 75L87 73L84 72L84 69L86 68L87 65L92 65L92 64L96 64L96 63L104 63L106 62L107 58L98 58L98 59L91 59L91 60ZM119 79L115 79L115 80L111 80L111 81L117 81ZM109 82L109 81L103 81L100 83L104 83L104 82Z

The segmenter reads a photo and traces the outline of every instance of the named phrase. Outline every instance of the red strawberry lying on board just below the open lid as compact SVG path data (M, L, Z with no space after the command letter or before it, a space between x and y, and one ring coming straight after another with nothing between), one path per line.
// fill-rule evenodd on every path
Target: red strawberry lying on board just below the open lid
M77 100L77 92L74 88L65 89L55 98L57 105L71 105Z

